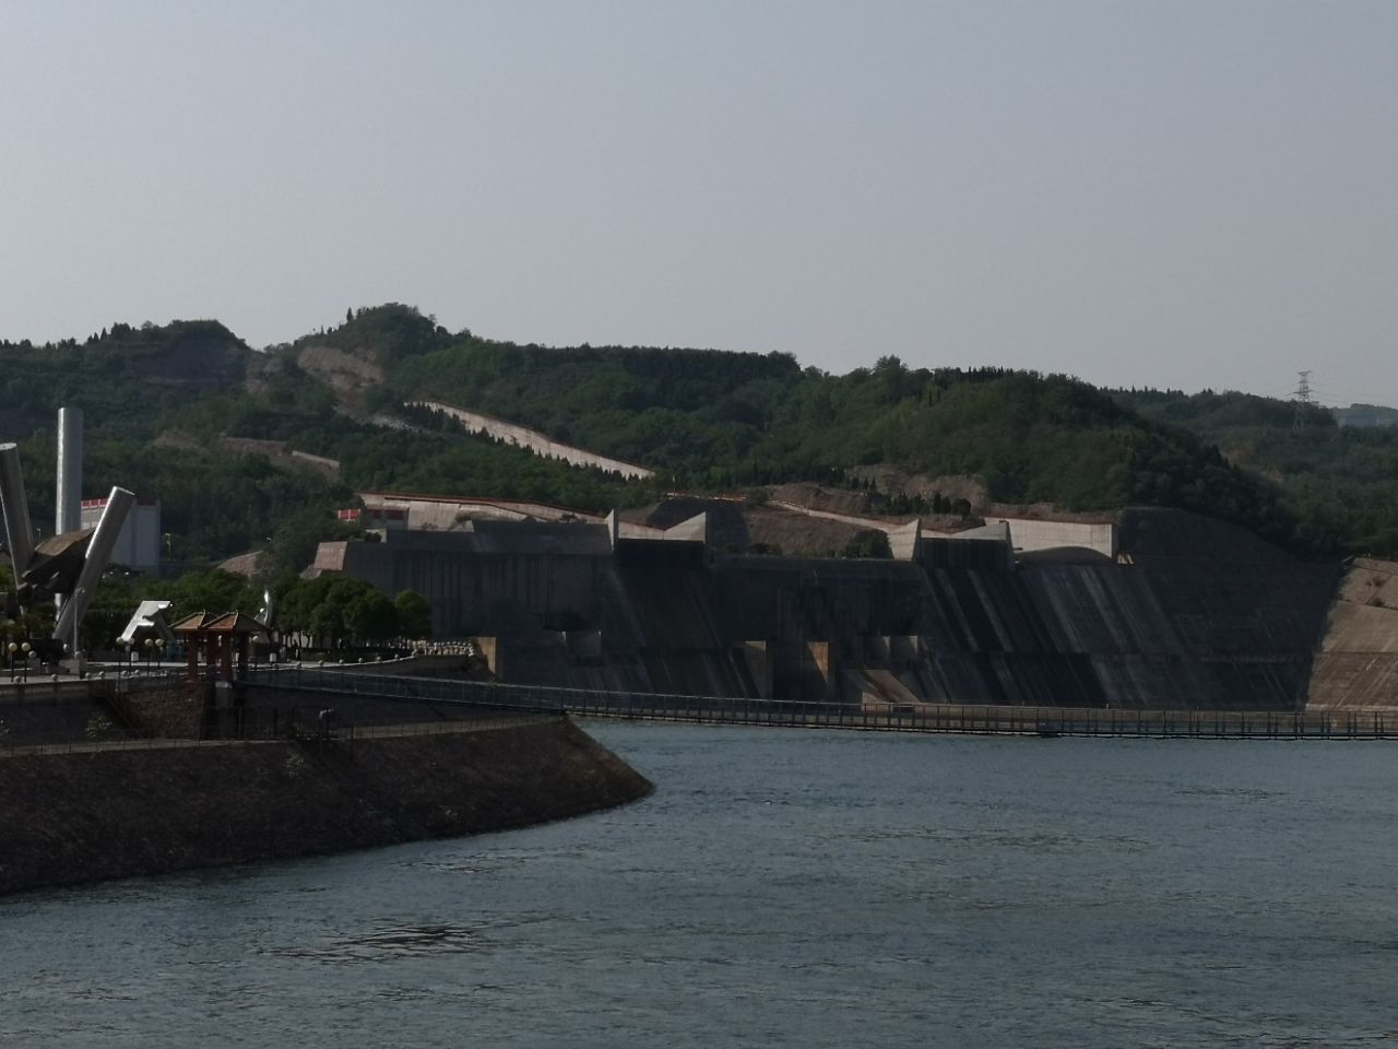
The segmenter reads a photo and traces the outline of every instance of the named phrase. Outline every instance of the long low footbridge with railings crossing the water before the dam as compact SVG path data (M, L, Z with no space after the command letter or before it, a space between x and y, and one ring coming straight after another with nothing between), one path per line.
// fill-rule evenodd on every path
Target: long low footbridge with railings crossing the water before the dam
M1360 740L1398 737L1392 712L1145 711L1128 708L864 705L661 692L607 692L407 677L358 667L282 666L253 673L243 688L291 692L306 705L336 697L468 708L481 713L549 713L710 725L768 725L983 736L1116 736L1155 738Z

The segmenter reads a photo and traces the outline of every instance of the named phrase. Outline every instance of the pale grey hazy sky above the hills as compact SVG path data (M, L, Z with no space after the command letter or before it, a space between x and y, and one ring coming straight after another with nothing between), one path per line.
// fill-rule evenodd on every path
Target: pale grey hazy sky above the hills
M514 341L1398 404L1398 3L0 0L0 337Z

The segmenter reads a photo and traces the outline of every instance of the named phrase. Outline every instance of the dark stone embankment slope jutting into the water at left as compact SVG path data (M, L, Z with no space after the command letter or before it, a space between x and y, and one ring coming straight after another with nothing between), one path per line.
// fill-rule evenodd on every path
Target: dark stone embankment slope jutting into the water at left
M566 719L0 757L0 892L561 820L650 783Z

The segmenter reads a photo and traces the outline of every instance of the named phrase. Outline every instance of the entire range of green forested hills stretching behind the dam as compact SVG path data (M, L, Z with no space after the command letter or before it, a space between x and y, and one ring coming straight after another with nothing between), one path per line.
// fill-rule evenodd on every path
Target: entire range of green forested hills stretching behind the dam
M788 354L517 345L447 331L400 305L351 311L264 352L217 322L176 322L116 324L82 343L0 344L0 354L14 376L0 396L0 438L24 442L35 520L52 519L53 413L75 404L88 414L87 490L122 481L161 499L189 561L271 536L294 565L334 527L329 509L356 490L605 511L674 488L868 484L872 467L888 467L888 495L899 495L889 477L906 478L910 505L963 478L995 504L1179 506L1302 550L1398 550L1377 502L1350 515L1320 487L1328 457L1343 462L1346 442L1357 449L1362 438L1317 418L1288 436L1295 455L1264 456L1261 435L1292 432L1292 407L1278 401L1244 406L1251 421L1237 428L1225 418L1233 408L1064 376L911 369L893 355L829 375ZM534 427L657 478L625 483L541 460L403 407L415 399ZM1276 420L1262 421L1268 413ZM1243 441L1250 427L1260 436ZM1369 439L1371 462L1394 462L1383 438ZM338 469L298 466L292 450Z

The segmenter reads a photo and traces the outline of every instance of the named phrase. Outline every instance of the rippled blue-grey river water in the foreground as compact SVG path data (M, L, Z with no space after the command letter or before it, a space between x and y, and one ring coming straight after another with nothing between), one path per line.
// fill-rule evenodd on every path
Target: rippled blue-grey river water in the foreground
M0 1046L1398 1046L1398 745L593 725L526 831L0 901Z

